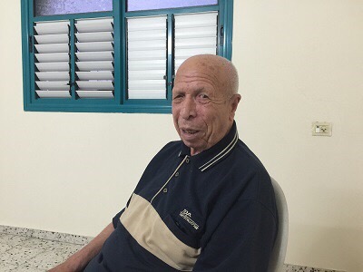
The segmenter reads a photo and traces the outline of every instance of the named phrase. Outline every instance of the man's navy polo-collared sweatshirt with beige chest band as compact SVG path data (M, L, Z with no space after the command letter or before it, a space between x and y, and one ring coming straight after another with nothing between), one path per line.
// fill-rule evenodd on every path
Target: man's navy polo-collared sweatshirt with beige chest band
M182 141L152 159L84 271L267 271L278 228L270 176L236 124L191 156Z

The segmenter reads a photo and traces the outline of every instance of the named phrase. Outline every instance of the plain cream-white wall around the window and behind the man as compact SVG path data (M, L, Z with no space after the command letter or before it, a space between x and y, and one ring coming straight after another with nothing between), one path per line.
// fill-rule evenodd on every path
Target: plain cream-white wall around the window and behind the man
M286 193L286 261L363 271L363 2L234 2L236 119ZM0 225L94 236L177 139L172 117L24 112L20 1L2 4Z

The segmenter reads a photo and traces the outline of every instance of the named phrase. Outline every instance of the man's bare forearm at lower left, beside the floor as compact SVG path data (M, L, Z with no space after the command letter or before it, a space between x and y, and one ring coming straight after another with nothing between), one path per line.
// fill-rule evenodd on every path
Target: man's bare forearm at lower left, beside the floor
M68 257L64 263L49 270L49 272L76 272L82 271L88 265L93 257L95 257L103 247L104 241L113 233L113 223L109 224L103 231L93 240L77 251L71 257Z

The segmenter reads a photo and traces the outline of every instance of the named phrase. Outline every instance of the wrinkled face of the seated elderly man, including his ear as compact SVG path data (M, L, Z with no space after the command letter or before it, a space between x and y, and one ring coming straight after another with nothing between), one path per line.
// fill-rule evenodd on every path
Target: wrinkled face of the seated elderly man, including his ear
M211 148L228 133L237 107L233 97L239 96L223 89L217 68L195 66L181 67L172 89L174 126L191 155Z

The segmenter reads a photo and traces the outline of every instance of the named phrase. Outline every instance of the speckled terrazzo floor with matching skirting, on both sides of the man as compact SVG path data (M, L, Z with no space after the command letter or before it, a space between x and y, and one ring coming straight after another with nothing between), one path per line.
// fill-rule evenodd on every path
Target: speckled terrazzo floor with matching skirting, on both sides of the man
M6 228L4 228L3 231L4 230L6 230ZM0 232L0 272L47 271L48 269L55 267L57 264L62 263L67 257L74 254L74 252L80 248L83 248L84 244L91 240L91 238L83 238L47 231L39 231L39 233L36 233L36 230L26 230L21 228L10 228L10 231L13 231L13 234ZM20 235L18 233L20 233ZM42 238L34 238L34 235L40 235ZM74 241L78 244L54 239ZM283 272L335 271L285 265Z

